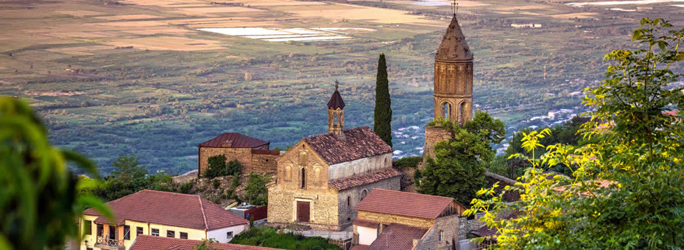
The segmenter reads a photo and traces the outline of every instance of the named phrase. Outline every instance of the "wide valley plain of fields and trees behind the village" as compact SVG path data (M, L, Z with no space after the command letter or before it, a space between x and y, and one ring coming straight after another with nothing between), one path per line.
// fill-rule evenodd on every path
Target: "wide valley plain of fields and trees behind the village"
M475 107L508 133L552 109L581 112L572 93L598 84L604 54L637 46L630 34L641 17L684 24L682 1L625 2L459 1ZM196 168L196 146L223 132L281 148L325 133L335 80L347 126L372 126L385 53L393 130L418 127L394 138L397 156L420 154L449 3L0 0L0 94L29 101L54 144L105 173L128 153L178 173Z

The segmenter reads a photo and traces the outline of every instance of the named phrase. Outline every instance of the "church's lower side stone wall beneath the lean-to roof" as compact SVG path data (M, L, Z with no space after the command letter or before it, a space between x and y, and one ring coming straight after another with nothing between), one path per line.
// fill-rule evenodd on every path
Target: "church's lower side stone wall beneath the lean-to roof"
M371 183L364 186L357 186L353 189L339 191L339 198L337 203L339 207L339 224L344 228L348 225L351 225L351 223L354 222L357 216L355 207L359 204L359 202L361 202L361 194L363 191L366 191L366 194L371 193L371 190L373 189L387 189L399 191L400 179L401 177L397 176L390 179L382 180L380 182ZM347 199L349 199L349 205L347 203Z

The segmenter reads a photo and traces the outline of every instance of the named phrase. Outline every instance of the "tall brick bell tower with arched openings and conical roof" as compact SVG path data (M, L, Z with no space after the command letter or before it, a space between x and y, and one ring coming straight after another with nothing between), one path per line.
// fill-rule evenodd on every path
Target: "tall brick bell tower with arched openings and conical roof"
M456 14L435 55L435 118L463 124L473 119L473 52L463 36ZM440 127L425 127L423 162L435 157L434 147L451 133ZM424 165L424 164L422 164Z

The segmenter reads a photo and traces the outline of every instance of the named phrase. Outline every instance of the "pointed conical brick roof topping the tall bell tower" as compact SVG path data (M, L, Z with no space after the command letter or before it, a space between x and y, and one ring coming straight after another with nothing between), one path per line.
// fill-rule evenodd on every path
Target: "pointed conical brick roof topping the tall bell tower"
M470 51L470 47L466 43L466 36L463 36L463 31L461 31L461 26L455 16L447 28L447 33L444 34L435 59L440 61L473 60L473 52Z

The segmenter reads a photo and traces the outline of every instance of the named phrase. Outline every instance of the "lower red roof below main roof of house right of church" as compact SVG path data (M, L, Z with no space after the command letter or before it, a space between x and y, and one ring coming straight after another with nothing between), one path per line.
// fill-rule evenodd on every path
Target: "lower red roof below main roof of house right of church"
M368 250L409 250L413 248L413 240L420 240L426 232L426 228L391 223L371 243Z

